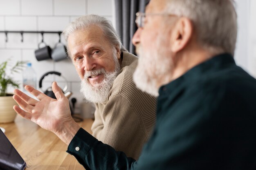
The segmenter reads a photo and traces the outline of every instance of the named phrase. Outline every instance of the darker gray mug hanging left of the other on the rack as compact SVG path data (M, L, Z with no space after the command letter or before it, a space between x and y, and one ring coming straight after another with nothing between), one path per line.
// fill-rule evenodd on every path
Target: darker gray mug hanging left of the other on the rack
M45 43L40 42L38 44L38 49L35 51L36 60L42 61L42 60L51 59L52 49L49 46L47 46L47 44L45 44L43 48L40 48L41 44L45 44Z

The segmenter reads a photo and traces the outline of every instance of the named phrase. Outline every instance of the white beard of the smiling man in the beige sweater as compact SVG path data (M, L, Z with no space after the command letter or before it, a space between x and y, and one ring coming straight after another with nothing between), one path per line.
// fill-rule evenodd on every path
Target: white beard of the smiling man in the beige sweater
M107 73L105 69L101 68L99 70L94 70L85 73L84 79L81 81L81 93L83 93L85 99L87 99L89 102L94 103L103 103L108 98L108 93L112 87L112 84L114 80L116 79L117 75L119 75L120 72L120 64L117 59L117 56L114 56L115 60L115 70L113 72ZM104 78L102 82L95 84L92 86L88 82L88 76L90 75L99 75L103 74Z

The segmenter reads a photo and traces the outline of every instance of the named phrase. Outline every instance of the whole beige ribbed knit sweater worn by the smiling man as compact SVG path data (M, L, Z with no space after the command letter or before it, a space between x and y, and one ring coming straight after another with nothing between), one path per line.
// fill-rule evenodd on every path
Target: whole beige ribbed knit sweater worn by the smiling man
M135 55L124 52L120 74L104 103L97 103L92 135L128 157L138 159L155 125L156 98L136 88Z

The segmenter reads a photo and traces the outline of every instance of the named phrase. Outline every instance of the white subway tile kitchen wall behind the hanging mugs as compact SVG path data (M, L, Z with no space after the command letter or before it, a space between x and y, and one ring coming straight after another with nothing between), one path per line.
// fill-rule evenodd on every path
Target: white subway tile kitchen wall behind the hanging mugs
M0 0L0 31L63 31L75 18L92 13L112 20L112 3L112 0ZM75 111L79 113L83 94L72 62L69 59L38 62L34 51L42 40L41 34L23 33L23 42L21 38L20 33L9 33L8 42L5 42L5 34L0 33L0 63L9 58L13 63L18 60L30 61L37 74L37 82L48 71L60 72L68 81L68 90L73 93L70 99L77 99ZM44 34L44 42L52 49L58 40L58 34ZM62 35L61 42L66 44ZM22 82L21 73L13 77ZM64 85L60 77L48 75L43 79L43 88L38 90L45 91L53 81L57 81L61 87ZM13 88L8 91L11 93Z

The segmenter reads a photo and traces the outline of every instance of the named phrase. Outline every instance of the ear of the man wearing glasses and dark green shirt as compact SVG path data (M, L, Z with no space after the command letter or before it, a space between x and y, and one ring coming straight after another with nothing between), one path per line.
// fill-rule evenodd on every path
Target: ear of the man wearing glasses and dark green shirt
M171 51L177 53L185 48L192 38L193 23L188 18L180 18L172 30Z

